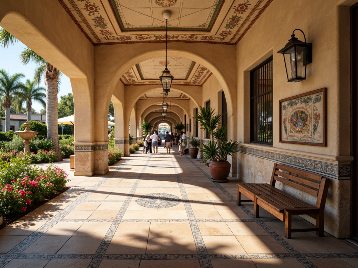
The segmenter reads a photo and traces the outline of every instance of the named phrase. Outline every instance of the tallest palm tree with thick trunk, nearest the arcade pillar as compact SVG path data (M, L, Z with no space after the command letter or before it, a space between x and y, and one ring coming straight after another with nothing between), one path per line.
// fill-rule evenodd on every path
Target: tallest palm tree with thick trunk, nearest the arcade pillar
M17 39L11 35L8 31L0 30L0 45L7 47L14 44ZM20 58L23 64L28 64L33 61L38 64L35 69L34 79L37 84L40 83L43 75L45 76L46 84L46 125L47 125L47 139L52 140L55 144L54 149L57 152L57 161L62 160L60 145L58 142L58 130L57 130L57 119L58 119L58 103L57 93L58 85L60 83L59 75L61 73L53 65L48 63L46 60L41 58L33 50L26 48L21 51Z

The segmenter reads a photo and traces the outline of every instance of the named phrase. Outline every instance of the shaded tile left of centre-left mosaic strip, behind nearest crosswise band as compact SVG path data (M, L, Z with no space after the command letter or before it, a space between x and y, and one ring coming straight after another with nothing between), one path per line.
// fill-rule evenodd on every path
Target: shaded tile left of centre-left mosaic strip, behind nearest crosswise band
M104 236L73 236L57 254L95 254Z

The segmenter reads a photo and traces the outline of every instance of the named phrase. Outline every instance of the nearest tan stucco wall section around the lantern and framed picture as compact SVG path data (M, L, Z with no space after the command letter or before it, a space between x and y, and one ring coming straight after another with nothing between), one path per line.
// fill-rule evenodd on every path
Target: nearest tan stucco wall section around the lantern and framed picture
M278 12L279 11L279 12ZM307 67L306 80L287 83L282 54L277 54L300 28L313 44L313 62ZM303 40L303 35L295 32ZM330 178L325 209L325 230L336 237L349 236L349 8L338 1L272 1L265 13L238 43L237 106L238 177L246 182L270 182L274 162L326 175ZM345 52L344 52L345 51ZM273 56L273 146L250 143L250 70ZM343 71L342 71L343 70ZM326 146L280 143L279 100L311 90L327 88ZM344 141L344 142L342 142ZM273 152L273 153L272 153ZM271 153L271 154L269 154ZM273 156L273 157L272 157ZM304 161L309 159L311 161ZM319 165L336 168L325 174ZM345 172L341 172L342 168ZM286 189L307 202L313 198Z

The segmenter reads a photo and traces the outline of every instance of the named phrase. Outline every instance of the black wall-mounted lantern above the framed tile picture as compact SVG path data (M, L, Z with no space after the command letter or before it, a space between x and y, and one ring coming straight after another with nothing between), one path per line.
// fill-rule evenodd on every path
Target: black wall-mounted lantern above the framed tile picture
M295 37L296 30L303 33L304 42ZM306 66L312 62L312 44L306 43L306 36L302 30L295 29L291 39L277 53L284 54L288 82L299 82L306 79Z

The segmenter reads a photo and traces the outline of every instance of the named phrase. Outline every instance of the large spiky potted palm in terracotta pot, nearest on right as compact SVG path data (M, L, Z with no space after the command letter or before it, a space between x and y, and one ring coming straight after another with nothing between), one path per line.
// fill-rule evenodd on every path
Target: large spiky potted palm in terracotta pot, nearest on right
M238 152L237 145L240 142L227 140L227 126L219 126L221 115L216 114L215 109L200 106L200 112L194 119L198 119L201 129L207 131L210 136L208 144L203 144L200 152L203 152L203 162L209 162L210 175L215 182L228 182L231 164L227 157Z

